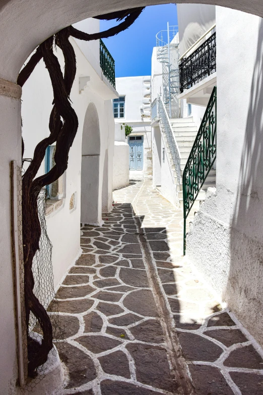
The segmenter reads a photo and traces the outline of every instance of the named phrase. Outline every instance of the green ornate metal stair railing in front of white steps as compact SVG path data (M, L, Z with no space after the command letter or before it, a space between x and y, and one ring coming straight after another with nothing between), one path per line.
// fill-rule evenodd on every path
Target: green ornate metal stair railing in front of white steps
M216 160L216 144L217 87L215 86L183 171L183 255L185 255L186 218Z

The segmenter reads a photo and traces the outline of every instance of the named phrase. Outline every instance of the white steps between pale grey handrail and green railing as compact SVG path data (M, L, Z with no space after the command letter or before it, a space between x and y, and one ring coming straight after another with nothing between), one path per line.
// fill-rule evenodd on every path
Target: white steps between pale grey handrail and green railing
M181 160L180 160L180 185L177 183L177 175L175 171L175 167L173 164L173 159L172 155L170 153L169 145L167 142L167 138L164 132L163 128L161 129L163 141L165 143L165 149L168 154L168 157L170 159L170 165L173 170L173 177L175 184L177 183L177 202L178 206L182 208L182 201L183 201L183 195L182 195L182 174L184 170L184 166L187 162L187 159L189 157L190 151L192 149L192 145L194 143L196 134L198 133L198 128L195 126L193 119L192 118L176 118L176 119L170 119L170 124L173 130L173 135L174 138L177 142L179 152L181 155ZM196 201L198 201L198 204L200 204L200 201L204 201L206 197L206 192L209 187L216 187L216 170L211 170L207 176L207 179L199 192L198 197L196 198Z

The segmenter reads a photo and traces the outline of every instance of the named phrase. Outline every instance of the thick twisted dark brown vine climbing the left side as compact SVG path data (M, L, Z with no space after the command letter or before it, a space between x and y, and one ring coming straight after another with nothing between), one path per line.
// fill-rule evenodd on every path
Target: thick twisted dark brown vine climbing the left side
M69 37L73 36L81 40L90 41L114 36L133 24L143 9L144 7L140 7L95 17L97 19L107 20L122 20L125 18L119 25L104 32L87 34L72 26L62 29L37 47L35 53L18 76L17 83L23 86L36 65L43 59L53 89L53 108L49 118L50 135L37 144L33 159L23 176L22 185L23 252L25 269L24 288L26 324L28 329L28 373L31 377L36 376L37 368L46 362L48 353L53 347L52 325L49 316L33 292L34 277L32 273L32 264L34 256L39 249L39 240L41 236L37 198L43 187L56 181L67 169L69 151L78 130L78 118L69 99L76 75L76 56L73 46L69 41ZM57 57L53 53L54 43L63 53L65 63L64 75L60 69ZM55 165L47 174L35 178L45 157L46 148L54 142L56 142L54 155ZM22 151L24 151L24 149L22 149ZM30 337L30 312L34 314L41 326L43 333L41 344Z

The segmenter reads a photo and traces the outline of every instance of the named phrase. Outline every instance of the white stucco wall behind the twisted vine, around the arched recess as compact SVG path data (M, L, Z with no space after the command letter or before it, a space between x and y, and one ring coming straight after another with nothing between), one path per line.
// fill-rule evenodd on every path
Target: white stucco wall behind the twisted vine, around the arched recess
M93 23L93 20L84 22L85 21L82 22L82 25L86 25L86 30L90 30L90 22L92 28L98 28L97 21L95 24ZM86 48L87 51L85 51L85 46L82 47L83 52L85 52L84 54L74 39L71 38L71 42L74 46L77 58L77 74L72 88L71 100L78 116L79 128L69 154L69 164L65 174L65 197L63 199L63 204L58 210L46 217L47 232L53 245L52 262L55 286L59 283L59 280L67 267L76 259L80 252L81 176L83 175L88 179L90 177L91 191L96 190L95 184L98 184L97 198L94 198L92 194L87 193L86 205L88 207L89 214L92 216L91 222L100 223L101 221L105 157L108 161L111 161L111 165L108 163L106 166L107 175L109 176L108 178L106 177L106 180L110 185L107 185L106 188L106 197L104 197L104 200L108 199L108 201L106 203L104 202L104 206L108 205L108 208L112 207L114 121L111 100L105 101L105 97L103 96L103 91L101 89L101 76L97 74L96 70L86 58L86 56L89 56L89 46ZM93 43L94 48L99 48L98 45L98 41ZM59 48L57 48L57 56L60 61L62 59L62 55ZM97 62L97 66L95 68L99 68L101 74L98 50L93 52L91 59L93 64L95 61ZM86 76L89 76L90 80L87 82L87 86L85 88L83 87L83 90L80 93L79 78ZM41 91L41 95L39 95L39 91ZM111 97L116 97L114 96L113 91L111 92ZM48 72L44 68L43 62L35 68L31 78L25 84L22 100L23 138L25 142L24 157L30 158L33 155L33 149L37 142L49 134L48 121L50 110L52 108L52 91ZM88 155L85 156L87 163L85 162L86 165L84 163L83 168L81 168L83 130L84 132L86 131L86 127L84 128L85 115L90 103L92 103L95 111L97 111L99 125L98 131L91 130L89 143L91 149L97 149L93 144L96 140L96 136L94 136L95 140L92 138L92 134L97 132L100 134L100 145L98 147L98 152L96 151L96 154L98 154L97 156L92 156L94 153L93 151L84 152ZM106 150L108 150L107 155L105 155ZM94 170L94 158L96 163L98 162L95 174L92 173ZM109 167L111 167L111 171L108 170ZM43 174L43 172L44 163L42 164L39 174ZM74 193L76 193L75 209L70 210L70 199Z

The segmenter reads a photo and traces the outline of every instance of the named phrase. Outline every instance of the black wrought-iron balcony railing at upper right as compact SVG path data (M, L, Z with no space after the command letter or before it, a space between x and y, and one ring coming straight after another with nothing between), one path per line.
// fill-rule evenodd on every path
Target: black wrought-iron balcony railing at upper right
M180 93L216 72L216 33L179 65Z

